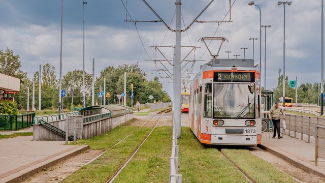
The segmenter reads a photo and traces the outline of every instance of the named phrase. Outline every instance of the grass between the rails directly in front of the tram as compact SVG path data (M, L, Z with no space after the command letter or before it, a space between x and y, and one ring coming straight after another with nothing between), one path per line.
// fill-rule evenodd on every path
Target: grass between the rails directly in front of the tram
M256 182L297 182L270 163L254 156L247 149L221 149L221 151Z

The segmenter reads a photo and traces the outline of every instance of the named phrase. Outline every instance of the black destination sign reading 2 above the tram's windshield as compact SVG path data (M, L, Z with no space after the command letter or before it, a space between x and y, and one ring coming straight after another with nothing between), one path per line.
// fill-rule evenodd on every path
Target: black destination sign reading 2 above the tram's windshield
M214 72L214 82L254 82L254 72Z

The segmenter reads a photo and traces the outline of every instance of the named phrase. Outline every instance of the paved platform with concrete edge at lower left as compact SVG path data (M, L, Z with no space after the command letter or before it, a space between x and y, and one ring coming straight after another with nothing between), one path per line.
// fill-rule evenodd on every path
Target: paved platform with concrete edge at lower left
M89 148L63 144L64 141L32 141L32 136L0 140L0 182L20 182Z

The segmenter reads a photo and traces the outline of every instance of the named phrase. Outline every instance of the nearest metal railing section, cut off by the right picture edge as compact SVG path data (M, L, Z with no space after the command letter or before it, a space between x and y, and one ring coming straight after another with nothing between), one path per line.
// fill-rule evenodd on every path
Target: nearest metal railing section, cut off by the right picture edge
M325 159L325 126L317 125L315 135L315 166L318 166L318 158Z

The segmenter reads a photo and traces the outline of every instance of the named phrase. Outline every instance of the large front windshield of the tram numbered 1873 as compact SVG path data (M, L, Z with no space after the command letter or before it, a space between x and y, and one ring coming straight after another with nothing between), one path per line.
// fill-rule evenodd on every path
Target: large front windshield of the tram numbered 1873
M255 118L255 93L247 83L214 83L214 118Z

